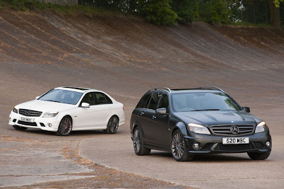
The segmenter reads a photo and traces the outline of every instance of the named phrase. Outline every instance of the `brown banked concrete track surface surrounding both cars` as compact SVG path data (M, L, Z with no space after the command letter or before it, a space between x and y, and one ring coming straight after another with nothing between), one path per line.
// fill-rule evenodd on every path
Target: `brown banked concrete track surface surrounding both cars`
M201 188L281 188L283 57L284 33L276 28L206 23L163 27L121 15L66 16L55 11L18 13L2 8L0 141L5 146L1 148L0 179L5 183L1 182L1 186L12 187L15 177L15 185L65 180L65 171L89 176L88 168L65 159L64 151L60 154L60 150L80 146L77 152L85 159L164 181ZM20 132L7 124L13 105L30 101L55 86L107 91L124 103L126 124L114 136L74 132L69 137L30 129ZM268 122L273 136L270 158L250 161L246 154L216 155L178 164L170 154L158 151L143 158L135 156L129 134L131 111L143 93L156 86L223 88ZM26 143L20 147L18 142L22 141ZM26 146L31 153L27 153ZM33 151L50 154L44 157L45 167L31 157ZM69 166L56 172L50 158ZM27 159L32 159L33 164ZM33 171L34 166L44 171ZM52 175L48 176L48 170ZM46 180L38 178L41 173Z

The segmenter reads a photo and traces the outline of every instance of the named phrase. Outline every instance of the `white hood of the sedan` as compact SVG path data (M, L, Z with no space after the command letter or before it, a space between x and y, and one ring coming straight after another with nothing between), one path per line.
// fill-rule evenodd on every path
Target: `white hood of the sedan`
M75 107L76 105L72 105L72 104L56 103L56 102L40 101L40 100L28 101L26 103L21 103L19 105L16 105L17 109L22 108L22 109L27 109L27 110L40 111L43 113L52 112L52 111L60 112L60 111L69 110Z

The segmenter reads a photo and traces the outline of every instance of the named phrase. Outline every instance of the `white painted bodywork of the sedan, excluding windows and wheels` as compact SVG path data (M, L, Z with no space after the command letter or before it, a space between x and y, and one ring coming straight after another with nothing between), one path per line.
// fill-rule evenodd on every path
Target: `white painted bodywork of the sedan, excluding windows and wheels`
M80 98L80 101L78 101L76 105L41 100L21 103L19 105L16 105L15 108L18 110L20 108L26 110L35 110L43 113L39 117L31 117L21 115L19 113L14 113L12 110L10 114L9 125L18 125L20 127L38 128L41 130L57 132L60 121L66 115L72 118L72 130L106 130L107 123L112 116L117 116L119 118L119 126L123 125L125 122L123 104L115 101L114 98L111 98L111 96L109 96L107 93L104 93L103 91L97 91L94 89L87 89L85 91L82 91L75 88L64 87L59 87L56 89L80 92L82 93L82 96ZM82 98L86 93L89 92L104 93L111 99L112 104L90 105L89 108L80 107ZM54 118L43 118L43 115L49 112L58 112L58 115L56 115ZM18 123L18 120L20 118L34 119L34 123L32 123L33 126L22 125L21 123ZM48 127L48 124L51 124L52 126ZM43 125L45 126L43 127Z

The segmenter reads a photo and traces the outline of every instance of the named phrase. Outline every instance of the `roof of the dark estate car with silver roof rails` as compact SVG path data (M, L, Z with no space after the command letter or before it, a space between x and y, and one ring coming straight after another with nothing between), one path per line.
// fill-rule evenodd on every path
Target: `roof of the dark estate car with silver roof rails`
M196 92L222 92L225 93L221 88L216 86L202 86L198 88L168 88L168 87L157 87L152 88L149 91L168 91L169 93L196 93Z

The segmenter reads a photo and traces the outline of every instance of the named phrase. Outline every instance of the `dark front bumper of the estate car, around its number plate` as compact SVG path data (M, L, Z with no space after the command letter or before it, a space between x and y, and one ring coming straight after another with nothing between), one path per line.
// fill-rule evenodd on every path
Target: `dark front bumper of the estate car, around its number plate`
M191 154L222 154L222 153L244 153L244 152L268 152L271 151L272 142L269 132L261 132L246 136L249 137L249 144L222 144L224 136L195 134L192 137L185 137L187 151ZM198 142L200 149L193 149L192 144ZM266 142L270 146L266 147Z

